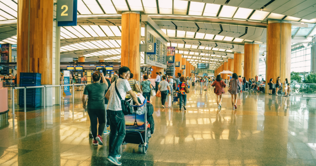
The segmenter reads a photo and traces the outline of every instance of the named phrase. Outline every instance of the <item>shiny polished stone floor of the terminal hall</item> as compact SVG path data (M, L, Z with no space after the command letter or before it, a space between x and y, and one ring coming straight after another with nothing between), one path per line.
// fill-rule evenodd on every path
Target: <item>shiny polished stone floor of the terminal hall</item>
M147 154L138 153L137 144L122 145L122 165L316 165L315 98L246 91L233 110L227 90L221 109L213 88L200 85L191 87L186 112L175 104L162 109L152 97L155 133ZM82 92L76 91L74 105L71 97L61 107L27 112L15 105L15 115L10 110L8 123L0 123L0 165L112 165L108 135L103 146L88 138Z

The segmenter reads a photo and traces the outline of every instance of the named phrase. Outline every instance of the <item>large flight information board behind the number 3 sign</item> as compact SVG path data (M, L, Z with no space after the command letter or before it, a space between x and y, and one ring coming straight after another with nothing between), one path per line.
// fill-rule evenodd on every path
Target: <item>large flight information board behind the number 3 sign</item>
M156 43L156 54L145 53L145 64L167 68L167 41L148 25L145 25L145 42L146 44Z

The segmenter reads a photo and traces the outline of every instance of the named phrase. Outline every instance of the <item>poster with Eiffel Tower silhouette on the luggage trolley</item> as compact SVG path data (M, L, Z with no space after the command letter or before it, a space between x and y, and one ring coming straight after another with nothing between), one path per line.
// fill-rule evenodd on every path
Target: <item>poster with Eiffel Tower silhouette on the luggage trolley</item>
M125 115L125 126L127 129L145 129L145 114Z

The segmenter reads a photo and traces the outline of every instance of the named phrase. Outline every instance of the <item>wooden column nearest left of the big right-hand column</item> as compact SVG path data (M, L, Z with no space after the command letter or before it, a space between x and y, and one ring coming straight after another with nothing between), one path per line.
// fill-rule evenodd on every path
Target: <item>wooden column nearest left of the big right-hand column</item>
M259 44L245 42L244 77L246 80L259 74Z

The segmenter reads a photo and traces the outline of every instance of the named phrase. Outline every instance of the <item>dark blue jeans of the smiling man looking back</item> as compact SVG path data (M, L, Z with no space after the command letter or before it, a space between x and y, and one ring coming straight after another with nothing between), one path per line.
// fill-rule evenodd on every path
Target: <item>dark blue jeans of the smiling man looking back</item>
M110 121L110 138L109 138L109 156L116 157L119 154L119 148L124 141L125 117L122 111L107 110L107 116Z

